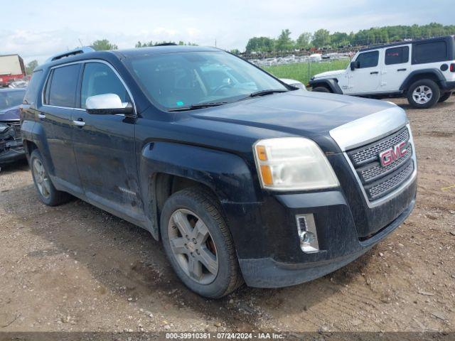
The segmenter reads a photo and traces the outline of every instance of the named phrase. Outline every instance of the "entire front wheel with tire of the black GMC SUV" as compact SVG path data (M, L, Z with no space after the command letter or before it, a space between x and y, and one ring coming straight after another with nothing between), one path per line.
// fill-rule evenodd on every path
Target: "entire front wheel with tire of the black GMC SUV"
M208 190L193 187L171 195L161 212L160 225L166 256L178 278L192 291L206 298L221 298L242 285L228 225L218 200Z

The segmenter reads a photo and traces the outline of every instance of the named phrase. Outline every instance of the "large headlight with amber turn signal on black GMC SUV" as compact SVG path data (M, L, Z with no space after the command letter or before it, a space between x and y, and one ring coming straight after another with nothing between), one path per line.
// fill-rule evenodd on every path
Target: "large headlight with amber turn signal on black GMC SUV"
M316 190L337 187L338 179L321 148L300 137L260 140L253 146L262 188Z

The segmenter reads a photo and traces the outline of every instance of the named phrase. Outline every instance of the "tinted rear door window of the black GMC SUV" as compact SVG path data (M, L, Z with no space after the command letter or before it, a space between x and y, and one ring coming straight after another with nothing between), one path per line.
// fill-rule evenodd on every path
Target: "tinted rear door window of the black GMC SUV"
M57 67L48 85L48 104L58 107L75 107L77 78L80 64Z

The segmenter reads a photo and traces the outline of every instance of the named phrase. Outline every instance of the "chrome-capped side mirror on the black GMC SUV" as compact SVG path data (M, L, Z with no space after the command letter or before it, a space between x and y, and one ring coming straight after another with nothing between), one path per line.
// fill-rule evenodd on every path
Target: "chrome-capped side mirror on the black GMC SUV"
M134 108L131 103L123 103L118 94L97 94L85 101L87 113L95 115L124 114L131 116Z

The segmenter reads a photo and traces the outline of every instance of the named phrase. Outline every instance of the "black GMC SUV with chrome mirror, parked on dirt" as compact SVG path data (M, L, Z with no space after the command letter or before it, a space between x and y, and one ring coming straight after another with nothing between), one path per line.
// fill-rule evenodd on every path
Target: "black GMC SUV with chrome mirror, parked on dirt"
M57 55L21 119L42 202L70 193L149 230L210 298L328 274L414 207L400 107L299 90L215 48Z

